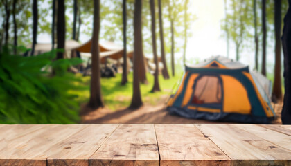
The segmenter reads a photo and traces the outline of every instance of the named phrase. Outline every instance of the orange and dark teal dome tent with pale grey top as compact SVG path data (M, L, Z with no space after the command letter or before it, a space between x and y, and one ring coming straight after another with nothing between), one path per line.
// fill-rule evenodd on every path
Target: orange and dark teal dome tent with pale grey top
M275 113L270 103L271 83L248 66L225 57L212 57L186 66L170 113L187 118L228 122L269 123Z

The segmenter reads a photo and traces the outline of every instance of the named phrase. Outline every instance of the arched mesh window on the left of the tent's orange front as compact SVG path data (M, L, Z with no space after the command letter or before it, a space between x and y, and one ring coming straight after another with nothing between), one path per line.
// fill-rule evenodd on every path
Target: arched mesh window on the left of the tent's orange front
M193 93L192 104L220 104L220 80L215 76L203 76L197 80Z

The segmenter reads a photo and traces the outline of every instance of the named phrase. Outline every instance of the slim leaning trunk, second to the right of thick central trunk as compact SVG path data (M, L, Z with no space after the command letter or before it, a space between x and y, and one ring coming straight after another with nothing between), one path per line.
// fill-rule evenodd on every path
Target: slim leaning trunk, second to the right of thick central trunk
M161 42L161 62L163 63L163 70L161 73L163 74L164 79L169 79L169 73L166 63L166 55L165 55L165 46L164 46L164 28L163 28L163 19L161 18L162 10L161 10L161 0L158 0L159 5L159 38Z

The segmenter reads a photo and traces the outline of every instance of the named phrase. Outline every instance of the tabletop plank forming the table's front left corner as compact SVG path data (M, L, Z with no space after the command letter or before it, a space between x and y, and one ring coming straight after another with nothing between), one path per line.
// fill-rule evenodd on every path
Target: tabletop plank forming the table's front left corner
M37 130L7 140L0 151L0 165L46 165L50 148L84 125L37 124ZM25 127L25 126L21 126ZM31 128L30 128L31 130Z

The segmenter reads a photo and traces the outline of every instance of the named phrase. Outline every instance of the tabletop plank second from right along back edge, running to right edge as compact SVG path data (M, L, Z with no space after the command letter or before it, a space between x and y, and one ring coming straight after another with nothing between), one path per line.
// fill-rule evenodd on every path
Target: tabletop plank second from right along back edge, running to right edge
M288 136L285 133L279 133L271 129L266 129L264 127L258 126L257 124L233 124L233 126L248 131L249 133L252 133L264 140L272 142L275 145L272 148L280 146L291 151L291 136Z

